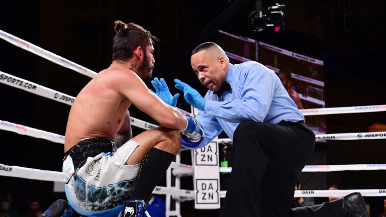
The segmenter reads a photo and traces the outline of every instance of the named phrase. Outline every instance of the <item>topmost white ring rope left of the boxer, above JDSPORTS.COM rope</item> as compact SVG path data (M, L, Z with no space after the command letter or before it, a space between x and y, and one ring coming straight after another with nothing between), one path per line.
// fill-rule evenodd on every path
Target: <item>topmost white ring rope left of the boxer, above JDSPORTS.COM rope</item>
M74 71L77 71L77 72L84 74L88 77L92 78L96 75L96 72L91 71L88 68L85 68L85 67L78 65L70 60L67 60L63 57L60 57L60 56L54 54L54 53L51 53L47 50L44 50L36 45L33 45L27 41L24 41L23 39L20 39L16 36L9 34L9 33L6 33L3 30L0 30L0 38L6 40L7 42L9 42L17 47L20 47L24 50L27 50L31 53L34 53L38 56L45 58L45 59L48 59L49 61L54 62L58 65L72 69Z

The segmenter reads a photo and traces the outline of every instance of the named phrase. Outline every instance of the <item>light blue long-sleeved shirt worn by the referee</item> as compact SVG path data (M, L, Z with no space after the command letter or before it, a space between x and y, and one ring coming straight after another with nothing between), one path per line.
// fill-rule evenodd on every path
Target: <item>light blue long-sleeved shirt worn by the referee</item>
M304 120L278 76L264 65L255 61L230 64L225 80L232 90L225 91L222 97L208 90L205 111L197 116L205 130L200 147L223 130L233 140L233 133L242 121L277 124L281 120Z

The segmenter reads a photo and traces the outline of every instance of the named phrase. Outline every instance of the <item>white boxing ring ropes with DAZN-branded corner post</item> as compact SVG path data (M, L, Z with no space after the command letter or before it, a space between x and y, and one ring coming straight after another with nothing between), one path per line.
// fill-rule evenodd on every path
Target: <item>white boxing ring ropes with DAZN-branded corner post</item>
M70 60L60 57L54 53L44 50L36 45L33 45L23 39L13 36L0 30L0 38L7 42L30 51L38 56L48 59L58 65L72 69L78 73L93 77L95 72L80 66ZM13 86L36 95L40 95L55 101L59 101L68 105L72 105L75 97L67 95L65 93L44 87L37 83L25 80L23 78L16 77L12 74L0 71L0 82L9 86ZM187 112L180 110L181 113L188 114ZM301 110L304 116L311 115L333 115L333 114L348 114L348 113L369 113L369 112L385 112L386 104L382 105L368 105L368 106L351 106L351 107L331 107L331 108L313 108ZM192 110L193 115L197 113L197 110ZM149 130L157 127L151 123L144 122L142 120L131 117L131 125L137 128ZM0 120L0 129L5 131L11 131L20 135L35 137L39 139L45 139L53 143L64 144L64 136L42 131L39 129L30 128L27 126L11 123L8 121ZM316 140L374 140L374 139L386 139L386 132L362 132L362 133L342 133L342 134L320 134L316 135ZM220 198L225 197L226 191L222 191L219 186L219 174L231 172L231 167L219 167L219 151L217 150L219 143L230 143L230 139L215 139L208 146L209 148L202 148L196 150L190 150L182 148L182 151L190 151L192 156L192 165L186 165L180 163L180 154L176 155L175 162L172 162L166 172L166 186L157 186L154 194L166 195L166 216L181 216L180 214L180 202L185 200L195 200L196 208L200 209L213 209L220 208ZM216 149L216 151L211 150ZM211 151L211 155L206 155L208 151ZM213 160L213 164L205 165L199 164L198 158L195 156L208 156L208 159ZM210 158L209 158L210 157ZM204 159L204 158L203 158ZM216 162L215 162L216 161ZM213 167L214 166L214 167ZM200 168L200 170L195 170ZM211 168L211 172L199 174L202 169ZM373 164L347 164L347 165L306 165L303 172L332 172L332 171L359 171L359 170L386 170L386 164L376 163ZM215 174L213 174L215 171ZM4 165L0 163L0 175L19 177L26 179L35 179L43 181L64 182L62 172L59 171L44 171L40 169L25 168L13 165ZM208 180L214 180L214 182L200 182L202 177L209 175L212 176ZM194 189L186 190L180 189L180 177L193 176ZM197 176L200 176L199 179ZM212 184L217 186L212 189L207 186ZM208 184L208 185L207 185ZM63 183L64 185L64 183ZM203 189L205 186L206 189ZM203 193L204 192L204 193ZM362 196L386 196L385 189L350 189L350 190L296 190L295 197L328 197L328 196L344 196L351 192L360 192ZM201 193L201 194L200 194ZM203 200L201 196L212 195L208 197L208 201ZM212 199L212 200L210 200ZM200 201L200 202L198 202ZM205 203L207 202L207 204ZM199 204L198 204L199 203ZM173 207L172 209L170 207Z

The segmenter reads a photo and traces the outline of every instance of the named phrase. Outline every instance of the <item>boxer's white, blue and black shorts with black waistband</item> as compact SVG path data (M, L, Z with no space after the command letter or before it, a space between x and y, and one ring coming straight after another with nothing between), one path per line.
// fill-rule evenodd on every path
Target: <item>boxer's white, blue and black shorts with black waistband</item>
M63 172L69 171L69 164L74 170L65 180L69 205L81 215L118 216L140 170L141 164L126 165L137 146L129 140L116 149L109 138L95 137L83 139L68 150Z

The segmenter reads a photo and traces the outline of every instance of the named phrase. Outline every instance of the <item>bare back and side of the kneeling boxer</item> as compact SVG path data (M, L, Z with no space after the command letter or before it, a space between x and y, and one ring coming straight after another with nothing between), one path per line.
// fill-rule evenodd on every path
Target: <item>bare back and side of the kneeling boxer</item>
M115 87L121 85L120 82L130 82L118 80L120 73L136 76L134 72L113 63L79 92L68 116L65 151L84 138L108 137L115 140L132 103Z

